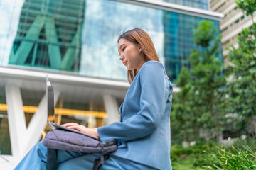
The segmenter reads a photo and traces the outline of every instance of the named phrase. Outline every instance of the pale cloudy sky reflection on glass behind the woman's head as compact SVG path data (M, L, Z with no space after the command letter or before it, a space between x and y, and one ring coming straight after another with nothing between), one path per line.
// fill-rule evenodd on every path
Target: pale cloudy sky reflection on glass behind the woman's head
M130 28L146 30L164 62L163 11L105 0L88 0L86 6L80 73L125 80L127 69L119 61L117 38Z

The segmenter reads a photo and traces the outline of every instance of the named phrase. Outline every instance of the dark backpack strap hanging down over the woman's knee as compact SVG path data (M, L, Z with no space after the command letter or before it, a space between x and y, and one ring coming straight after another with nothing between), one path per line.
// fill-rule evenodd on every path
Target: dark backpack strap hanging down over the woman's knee
M55 170L57 169L57 149L47 148L47 162L46 169L47 170Z

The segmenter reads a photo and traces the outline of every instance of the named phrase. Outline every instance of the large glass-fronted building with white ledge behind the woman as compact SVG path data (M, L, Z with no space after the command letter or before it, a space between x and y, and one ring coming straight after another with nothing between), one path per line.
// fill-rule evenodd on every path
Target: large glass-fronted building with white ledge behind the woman
M110 113L117 111L110 106L119 106L129 87L127 69L117 52L118 36L131 28L146 30L174 81L196 47L193 29L197 24L208 20L220 28L222 16L207 10L206 0L0 1L1 154L16 151L8 120L10 108L15 108L8 103L14 97L9 94L18 91L17 103L23 105L24 125L29 129L45 100L43 77L49 74L59 90L58 123L105 125ZM50 128L42 130L43 135Z

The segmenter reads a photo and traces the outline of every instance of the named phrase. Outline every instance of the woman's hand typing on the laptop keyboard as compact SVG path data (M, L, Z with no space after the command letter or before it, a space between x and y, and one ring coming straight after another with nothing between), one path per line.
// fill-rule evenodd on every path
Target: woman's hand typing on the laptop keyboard
M65 123L63 126L74 130L79 130L80 132L85 132L95 137L99 137L97 128L86 128L84 125L78 125L78 123Z

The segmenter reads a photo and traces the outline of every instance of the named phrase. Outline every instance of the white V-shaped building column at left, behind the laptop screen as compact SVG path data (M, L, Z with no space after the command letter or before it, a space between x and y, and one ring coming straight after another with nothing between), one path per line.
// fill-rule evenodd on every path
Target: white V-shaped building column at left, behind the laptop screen
M41 132L46 128L47 103L46 94L38 105L38 110L31 118L28 128L23 111L21 89L17 86L6 86L6 104L8 106L8 122L11 140L11 153L17 163L36 145L41 138ZM57 103L60 91L54 93L54 103Z

